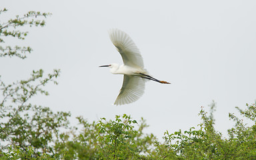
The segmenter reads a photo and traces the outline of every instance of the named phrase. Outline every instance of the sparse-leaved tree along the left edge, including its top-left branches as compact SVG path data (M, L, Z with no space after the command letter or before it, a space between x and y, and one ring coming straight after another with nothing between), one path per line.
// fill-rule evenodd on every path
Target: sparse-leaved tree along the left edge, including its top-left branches
M1 9L0 14L7 12ZM48 17L51 13L40 13L29 11L23 17L17 15L14 19L0 24L0 57L19 57L25 59L27 53L31 53L31 47L11 47L3 44L6 37L25 39L28 32L20 28L29 25L45 25L40 17ZM29 103L31 97L41 93L48 95L43 87L49 82L57 84L60 71L54 69L53 73L43 76L43 70L33 71L31 77L25 80L6 84L0 79L0 157L9 153L19 151L21 155L32 151L34 155L39 153L51 153L54 155L51 141L59 134L59 128L67 128L70 113L53 113L49 107L37 106ZM0 77L1 78L1 77Z

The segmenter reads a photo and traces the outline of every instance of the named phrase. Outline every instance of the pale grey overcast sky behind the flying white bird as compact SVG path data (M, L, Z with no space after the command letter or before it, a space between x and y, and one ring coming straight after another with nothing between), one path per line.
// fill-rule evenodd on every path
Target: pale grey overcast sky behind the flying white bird
M53 111L71 111L88 121L114 119L123 113L147 120L147 133L196 127L201 106L214 100L216 128L226 133L234 123L228 113L256 99L256 1L9 1L1 0L0 21L27 11L51 12L45 27L25 27L33 53L25 60L0 59L1 79L27 79L33 69L61 69L59 85L37 104ZM141 99L112 105L122 75L99 65L122 64L108 30L130 35L141 51L145 69L162 85L149 81ZM238 114L238 113L237 113ZM71 119L76 124L74 118Z

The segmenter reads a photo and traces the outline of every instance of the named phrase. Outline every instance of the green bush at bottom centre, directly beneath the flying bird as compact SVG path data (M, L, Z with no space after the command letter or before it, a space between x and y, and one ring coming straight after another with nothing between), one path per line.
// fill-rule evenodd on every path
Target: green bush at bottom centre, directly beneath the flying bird
M143 133L147 127L143 119L138 129L134 126L137 121L125 114L122 119L116 115L115 121L101 118L91 124L83 117L77 119L83 129L62 134L55 143L55 149L65 151L68 159L139 159L142 153L151 153L155 137Z

